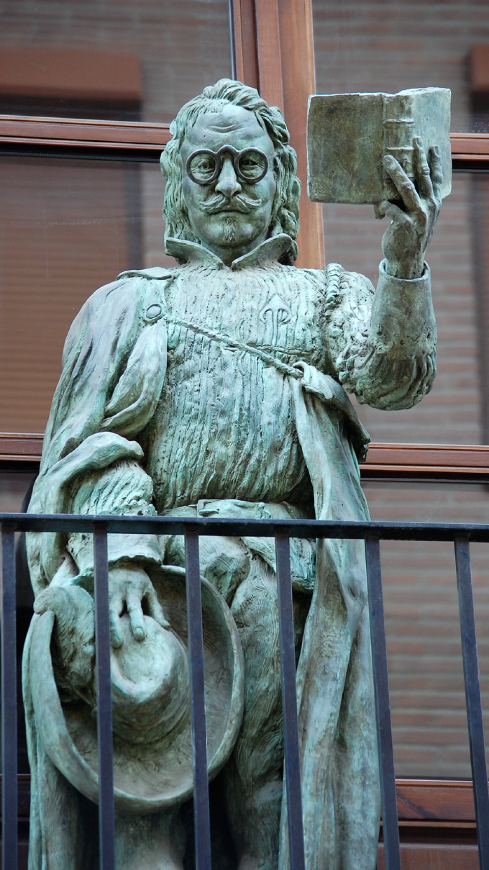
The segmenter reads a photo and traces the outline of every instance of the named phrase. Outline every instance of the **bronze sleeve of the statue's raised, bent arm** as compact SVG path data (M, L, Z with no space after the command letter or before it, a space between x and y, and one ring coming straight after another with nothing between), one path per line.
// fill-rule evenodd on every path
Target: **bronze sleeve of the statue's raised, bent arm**
M327 345L340 383L360 404L411 408L436 374L436 325L426 264L420 278L387 274L377 290L363 275L327 267Z

